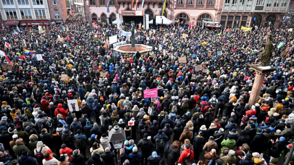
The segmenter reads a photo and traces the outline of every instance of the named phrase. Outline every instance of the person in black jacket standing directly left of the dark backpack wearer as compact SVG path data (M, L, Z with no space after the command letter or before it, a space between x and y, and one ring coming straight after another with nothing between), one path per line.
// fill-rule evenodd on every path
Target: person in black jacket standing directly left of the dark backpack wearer
M141 158L141 165L144 165L144 158L145 158L145 165L148 164L148 156L152 153L153 150L153 143L151 140L147 139L148 134L144 133L143 138L137 144L137 147L141 147L142 151L142 158Z

